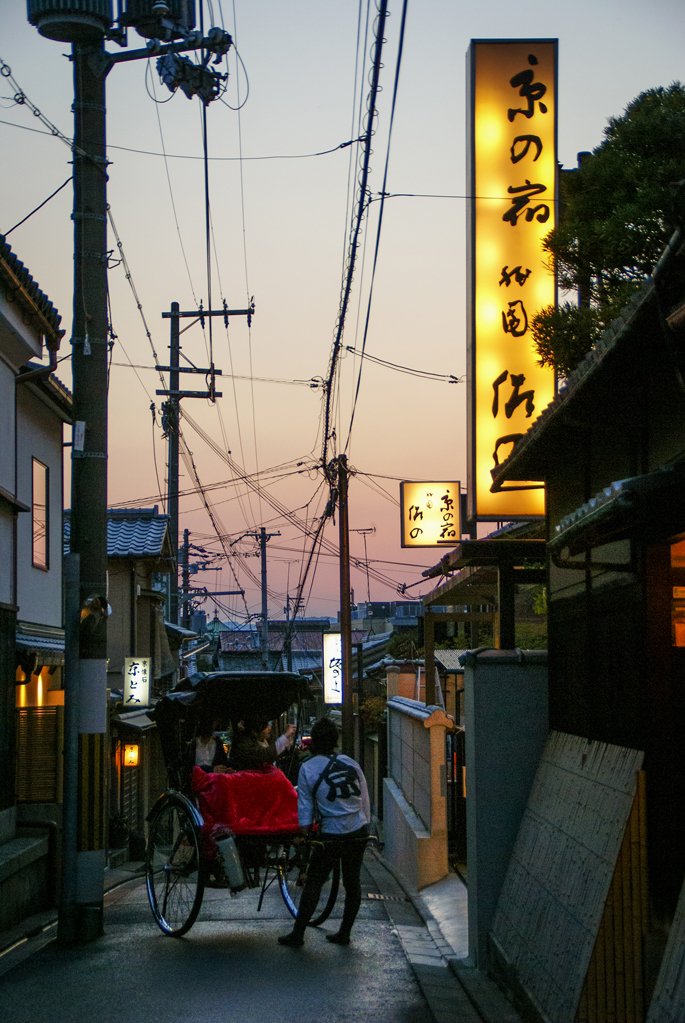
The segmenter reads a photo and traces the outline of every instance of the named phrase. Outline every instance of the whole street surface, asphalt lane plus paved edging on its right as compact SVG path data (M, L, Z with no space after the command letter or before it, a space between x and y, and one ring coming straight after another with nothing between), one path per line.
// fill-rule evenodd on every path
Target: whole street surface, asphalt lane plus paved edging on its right
M135 873L141 864L125 865L108 872L118 886L105 896L99 941L61 948L53 942L54 915L41 915L29 935L25 928L13 947L0 948L3 1023L74 1023L82 1016L98 1023L518 1021L463 962L458 935L465 935L466 900L456 876L410 892L369 849L353 944L325 940L337 927L338 900L323 927L308 931L305 948L290 949L275 940L291 926L275 886L260 914L258 892L231 898L208 890L192 930L172 939L152 922Z

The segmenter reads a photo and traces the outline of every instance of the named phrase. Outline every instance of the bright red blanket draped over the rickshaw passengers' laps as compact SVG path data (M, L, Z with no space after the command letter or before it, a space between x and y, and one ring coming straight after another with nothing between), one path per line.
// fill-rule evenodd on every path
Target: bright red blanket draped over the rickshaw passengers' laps
M296 832L298 793L277 767L208 774L195 767L192 789L207 832L224 825L236 835Z

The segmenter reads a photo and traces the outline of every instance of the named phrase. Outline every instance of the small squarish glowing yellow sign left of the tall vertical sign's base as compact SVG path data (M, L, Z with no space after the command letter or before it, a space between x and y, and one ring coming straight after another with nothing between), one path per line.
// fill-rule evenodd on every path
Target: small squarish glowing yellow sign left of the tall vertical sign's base
M461 540L459 483L401 483L403 547L454 547Z

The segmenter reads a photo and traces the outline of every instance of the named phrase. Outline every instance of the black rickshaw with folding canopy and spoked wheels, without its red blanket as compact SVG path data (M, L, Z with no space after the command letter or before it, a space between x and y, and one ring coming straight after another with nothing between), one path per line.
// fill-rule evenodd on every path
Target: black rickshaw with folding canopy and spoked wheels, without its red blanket
M169 788L150 810L145 855L147 896L152 916L167 935L180 937L190 930L202 905L216 847L207 834L201 812L201 793L193 791L187 751L202 716L238 722L256 714L274 720L290 707L311 699L309 680L287 672L198 672L155 705L150 712L156 723L167 768ZM298 713L298 726L301 714ZM292 746L294 755L298 737ZM246 772L243 772L246 773ZM211 775L217 777L218 775ZM238 780L238 774L220 775ZM314 839L290 833L235 834L245 884L261 887L258 910L264 896L277 882L289 913L296 917L307 864ZM339 864L324 885L317 911L311 921L316 927L326 920L335 904L339 887ZM235 894L233 891L231 894Z

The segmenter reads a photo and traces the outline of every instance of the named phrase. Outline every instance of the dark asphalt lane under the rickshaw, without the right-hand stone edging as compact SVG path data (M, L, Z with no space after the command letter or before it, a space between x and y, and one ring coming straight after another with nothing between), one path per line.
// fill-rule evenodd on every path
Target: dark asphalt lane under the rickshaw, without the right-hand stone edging
M367 857L371 854L367 852ZM369 859L364 899L349 947L331 945L341 899L303 949L280 946L291 926L274 886L258 893L208 891L184 938L152 922L145 889L106 898L106 934L93 944L54 942L0 980L3 1023L433 1023L395 925L420 927L409 902L369 899L400 889ZM385 877L386 875L386 877ZM374 880L375 879L375 880ZM393 921L389 917L392 914Z

